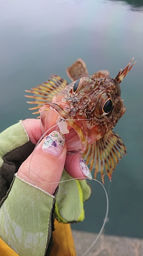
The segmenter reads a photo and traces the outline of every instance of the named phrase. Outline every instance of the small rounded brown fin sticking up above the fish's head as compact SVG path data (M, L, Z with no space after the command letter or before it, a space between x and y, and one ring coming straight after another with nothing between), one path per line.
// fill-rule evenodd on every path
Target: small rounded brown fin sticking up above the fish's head
M74 82L83 76L87 76L88 70L82 59L77 59L73 65L66 69L68 77Z

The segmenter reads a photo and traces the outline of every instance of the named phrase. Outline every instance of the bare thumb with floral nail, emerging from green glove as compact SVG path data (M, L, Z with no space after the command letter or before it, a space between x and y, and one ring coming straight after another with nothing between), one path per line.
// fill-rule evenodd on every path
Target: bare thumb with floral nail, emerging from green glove
M66 153L64 135L53 131L21 164L17 176L53 195L61 179Z

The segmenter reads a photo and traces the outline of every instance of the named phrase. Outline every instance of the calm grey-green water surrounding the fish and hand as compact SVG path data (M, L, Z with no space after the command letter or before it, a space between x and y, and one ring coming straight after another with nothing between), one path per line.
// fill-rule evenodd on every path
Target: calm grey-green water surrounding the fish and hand
M28 111L24 89L35 87L53 73L70 81L65 68L77 58L83 58L90 74L108 69L111 77L116 77L135 57L137 63L121 83L127 111L115 129L127 147L127 156L118 164L112 182L105 177L109 216L104 232L142 238L142 2L0 3L0 131L17 120L34 117ZM106 201L100 185L90 183L93 193L85 202L85 221L72 228L98 232Z

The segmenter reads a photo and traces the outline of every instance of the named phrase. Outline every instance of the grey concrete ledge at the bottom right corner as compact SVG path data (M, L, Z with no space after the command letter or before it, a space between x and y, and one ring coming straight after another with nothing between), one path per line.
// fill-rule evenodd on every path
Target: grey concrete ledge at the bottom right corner
M77 256L81 256L97 234L72 230ZM143 256L143 239L102 234L87 256Z

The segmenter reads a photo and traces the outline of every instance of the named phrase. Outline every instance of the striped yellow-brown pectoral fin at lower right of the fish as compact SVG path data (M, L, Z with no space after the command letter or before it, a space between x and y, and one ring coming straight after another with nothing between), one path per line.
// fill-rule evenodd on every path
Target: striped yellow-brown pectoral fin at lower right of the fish
M126 147L122 139L118 134L110 131L100 140L88 145L83 158L87 164L90 164L90 171L95 170L95 179L97 173L101 172L104 183L104 175L107 174L111 181L112 172L124 155L126 155Z

